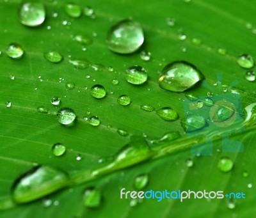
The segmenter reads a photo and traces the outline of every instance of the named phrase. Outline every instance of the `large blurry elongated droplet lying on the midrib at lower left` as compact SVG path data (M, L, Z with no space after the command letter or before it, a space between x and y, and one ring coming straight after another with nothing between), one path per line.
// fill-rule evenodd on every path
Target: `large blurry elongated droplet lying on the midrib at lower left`
M66 173L48 166L40 166L15 182L12 196L17 203L27 203L58 191L67 185Z

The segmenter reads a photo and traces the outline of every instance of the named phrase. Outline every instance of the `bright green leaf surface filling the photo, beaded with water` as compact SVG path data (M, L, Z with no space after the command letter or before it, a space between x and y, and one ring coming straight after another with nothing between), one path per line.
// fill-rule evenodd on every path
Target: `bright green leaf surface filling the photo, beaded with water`
M84 14L79 10L72 17L65 12L70 1L42 3L46 19L33 24L37 27L21 24L20 1L0 3L1 217L253 217L255 82L244 78L248 70L237 59L241 54L256 57L255 3L77 0ZM143 27L142 47L129 55L109 51L109 28L131 18ZM13 44L19 45L18 54L14 51L19 59L8 56L6 47ZM58 52L63 61L51 63L44 58L48 51ZM150 59L141 58L147 52ZM159 72L173 61L196 66L204 81L180 93L160 88ZM125 79L134 65L147 71L147 82L140 86ZM106 89L106 97L91 95L96 84ZM196 97L195 102L185 95ZM125 107L118 104L120 96L129 97L120 100ZM51 104L52 97L60 98L60 105ZM220 107L221 101L234 102L236 113L223 125L218 120L186 133L184 120L190 113L214 117L211 107L197 107L208 97ZM153 112L164 107L177 111L179 119L166 121ZM59 123L61 108L76 114L72 125ZM242 109L244 118L237 120ZM95 117L100 125L90 125ZM60 157L52 152L58 143L66 149ZM205 155L204 148L212 150ZM227 173L218 167L223 158L232 162ZM188 159L193 161L189 167ZM36 180L33 198L23 201L25 190L15 203L15 184L35 166L64 179ZM245 199L234 199L231 206L228 198L120 199L121 189L136 190L140 175L148 176L142 191L243 192ZM88 198L86 191L91 191Z

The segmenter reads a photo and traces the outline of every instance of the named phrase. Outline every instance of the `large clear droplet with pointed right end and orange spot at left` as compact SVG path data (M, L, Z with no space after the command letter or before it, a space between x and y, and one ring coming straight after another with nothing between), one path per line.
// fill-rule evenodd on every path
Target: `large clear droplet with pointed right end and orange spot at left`
M193 87L204 75L190 63L175 61L166 65L159 77L159 86L164 90L181 92Z

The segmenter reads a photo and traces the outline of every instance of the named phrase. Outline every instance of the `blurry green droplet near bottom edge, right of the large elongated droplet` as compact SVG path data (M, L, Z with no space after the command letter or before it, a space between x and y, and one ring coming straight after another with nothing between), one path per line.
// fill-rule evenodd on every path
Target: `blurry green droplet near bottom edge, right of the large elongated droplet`
M84 206L97 208L100 206L101 194L98 189L89 188L84 192Z

